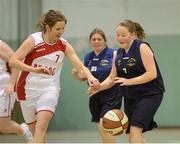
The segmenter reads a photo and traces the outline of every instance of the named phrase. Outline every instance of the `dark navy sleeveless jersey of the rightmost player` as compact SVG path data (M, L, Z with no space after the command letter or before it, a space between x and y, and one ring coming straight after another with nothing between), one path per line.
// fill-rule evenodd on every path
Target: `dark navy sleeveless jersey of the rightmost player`
M140 54L140 45L142 43L146 42L135 39L128 53L126 53L124 49L118 49L115 65L119 77L134 78L146 72ZM121 90L126 98L136 99L142 96L161 94L165 91L163 79L156 60L155 63L157 78L145 84L122 86Z

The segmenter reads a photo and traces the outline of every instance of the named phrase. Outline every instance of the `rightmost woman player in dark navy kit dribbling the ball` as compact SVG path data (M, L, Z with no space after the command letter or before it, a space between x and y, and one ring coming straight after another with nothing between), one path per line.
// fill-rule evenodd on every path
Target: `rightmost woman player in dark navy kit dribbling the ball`
M129 119L130 143L144 143L143 132L157 127L153 117L161 104L165 91L163 79L154 53L140 24L131 20L121 22L116 29L120 49L114 53L109 77L98 91L121 86L124 108ZM89 88L90 95L97 92Z

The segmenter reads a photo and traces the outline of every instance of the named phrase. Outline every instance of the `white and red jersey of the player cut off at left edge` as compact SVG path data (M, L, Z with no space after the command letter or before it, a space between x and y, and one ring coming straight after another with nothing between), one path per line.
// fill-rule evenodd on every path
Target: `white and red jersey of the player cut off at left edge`
M1 42L1 40L0 40ZM0 91L2 91L10 80L9 67L7 62L0 58ZM1 96L2 94L0 94Z

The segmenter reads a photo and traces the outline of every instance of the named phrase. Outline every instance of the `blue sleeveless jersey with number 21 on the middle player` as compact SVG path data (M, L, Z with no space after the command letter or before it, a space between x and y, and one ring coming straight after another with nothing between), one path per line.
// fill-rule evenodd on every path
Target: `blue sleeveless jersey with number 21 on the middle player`
M89 52L84 58L84 65L91 71L92 75L99 80L104 81L110 74L113 62L113 49L104 48L103 51L96 55L93 51ZM97 94L112 94L112 91L119 91L118 85L108 90L101 91Z

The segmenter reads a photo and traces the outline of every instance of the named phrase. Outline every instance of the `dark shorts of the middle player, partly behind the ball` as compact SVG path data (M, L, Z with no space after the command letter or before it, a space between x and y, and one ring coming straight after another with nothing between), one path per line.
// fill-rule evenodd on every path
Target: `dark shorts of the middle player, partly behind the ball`
M119 91L102 91L89 99L89 109L92 122L99 122L106 112L112 109L120 109L122 96Z

